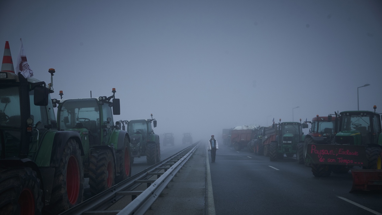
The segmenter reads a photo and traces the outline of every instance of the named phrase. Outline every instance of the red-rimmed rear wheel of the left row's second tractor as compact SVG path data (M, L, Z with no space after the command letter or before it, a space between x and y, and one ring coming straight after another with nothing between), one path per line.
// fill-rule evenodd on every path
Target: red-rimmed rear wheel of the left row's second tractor
M119 150L119 165L120 165L120 175L115 176L115 183L118 184L119 182L129 178L131 176L131 158L130 158L130 151L129 151L129 139L127 136L125 136L125 140L123 141L123 145L125 146L124 149Z

